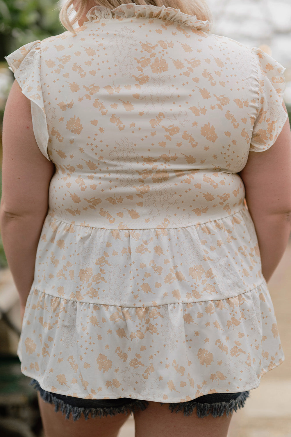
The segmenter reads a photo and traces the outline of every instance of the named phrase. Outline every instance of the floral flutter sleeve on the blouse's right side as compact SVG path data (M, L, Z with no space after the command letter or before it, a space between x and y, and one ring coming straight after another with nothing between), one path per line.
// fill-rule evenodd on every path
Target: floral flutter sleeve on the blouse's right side
M259 86L259 110L253 125L250 152L263 152L276 141L288 118L282 106L285 68L271 56L254 47Z

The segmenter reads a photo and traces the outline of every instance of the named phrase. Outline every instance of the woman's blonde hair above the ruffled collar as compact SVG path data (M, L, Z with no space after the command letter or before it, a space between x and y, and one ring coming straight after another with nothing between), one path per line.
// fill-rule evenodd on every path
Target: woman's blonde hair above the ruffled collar
M198 20L208 20L209 22L212 21L211 12L205 0L91 0L90 4L92 3L108 7L109 9L114 9L126 3L135 3L136 5L150 4L158 7L172 7L180 10L184 14L195 15ZM72 19L70 19L70 15L74 9L76 14ZM87 0L68 0L60 10L60 21L64 28L75 33L73 24L80 20L87 9Z

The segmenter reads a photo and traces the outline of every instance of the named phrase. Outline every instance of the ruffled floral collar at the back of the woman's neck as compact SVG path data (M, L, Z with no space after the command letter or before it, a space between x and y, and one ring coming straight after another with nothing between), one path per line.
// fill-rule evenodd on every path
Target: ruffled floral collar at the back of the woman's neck
M185 26L191 26L203 32L208 32L210 30L209 21L197 20L196 15L187 15L181 12L179 9L165 7L164 5L153 6L149 4L137 5L135 3L126 3L116 7L115 9L97 5L92 7L87 14L89 21L133 17L159 18L161 20L175 21L176 23L184 24Z

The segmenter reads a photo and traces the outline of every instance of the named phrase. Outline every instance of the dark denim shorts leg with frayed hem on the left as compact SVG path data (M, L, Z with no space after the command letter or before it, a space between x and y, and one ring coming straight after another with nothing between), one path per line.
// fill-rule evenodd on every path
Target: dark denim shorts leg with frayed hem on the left
M92 418L98 416L116 416L116 414L125 413L127 416L128 413L134 413L137 410L145 410L148 406L148 402L140 399L134 399L133 402L130 402L126 405L121 405L117 407L103 407L103 408L86 408L86 407L77 407L72 406L63 401L62 399L58 399L56 396L54 396L53 393L47 392L41 386L39 385L38 381L31 380L29 385L32 385L36 390L38 390L41 399L43 399L45 402L48 402L50 404L55 405L55 412L57 413L58 410L62 412L62 414L65 414L65 419L69 419L70 415L72 413L72 419L75 422L75 420L79 420L82 416L82 413L85 416L85 419L89 419L89 415L91 415Z

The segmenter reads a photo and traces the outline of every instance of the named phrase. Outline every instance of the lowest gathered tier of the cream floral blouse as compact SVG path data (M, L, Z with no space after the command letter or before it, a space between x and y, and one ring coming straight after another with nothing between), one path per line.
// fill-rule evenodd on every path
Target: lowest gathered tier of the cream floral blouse
M154 308L67 301L32 290L17 354L22 372L49 392L167 403L256 388L284 361L264 282L233 298Z

